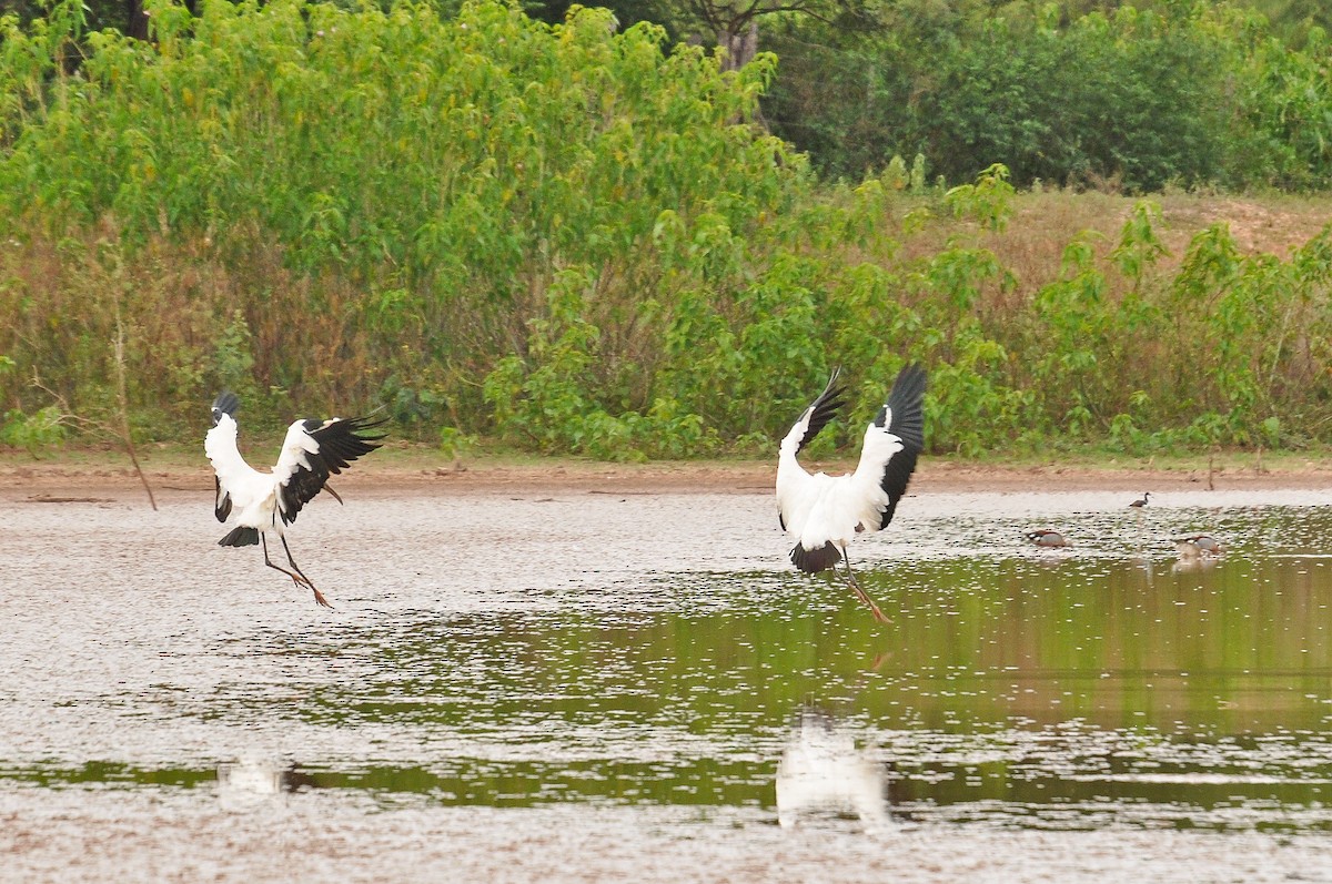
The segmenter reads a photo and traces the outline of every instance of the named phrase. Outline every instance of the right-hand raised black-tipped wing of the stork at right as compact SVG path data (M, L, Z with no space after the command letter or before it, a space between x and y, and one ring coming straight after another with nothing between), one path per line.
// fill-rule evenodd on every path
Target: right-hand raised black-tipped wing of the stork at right
M864 449L855 475L878 477L879 487L888 495L879 529L892 521L898 501L907 493L916 458L924 449L924 390L923 367L912 363L902 369L892 382L888 401L864 431Z

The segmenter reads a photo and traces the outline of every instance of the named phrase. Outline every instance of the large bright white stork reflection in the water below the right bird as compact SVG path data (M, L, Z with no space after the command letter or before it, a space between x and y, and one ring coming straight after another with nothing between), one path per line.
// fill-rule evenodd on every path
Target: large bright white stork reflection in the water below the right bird
M855 744L826 712L805 707L777 766L777 820L783 828L810 816L859 817L866 832L888 828L886 767Z

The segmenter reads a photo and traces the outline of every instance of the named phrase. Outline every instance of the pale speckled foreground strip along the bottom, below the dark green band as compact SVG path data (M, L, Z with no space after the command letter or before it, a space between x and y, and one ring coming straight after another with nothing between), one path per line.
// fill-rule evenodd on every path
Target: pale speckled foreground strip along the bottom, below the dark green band
M1319 836L915 827L868 839L836 823L781 829L729 808L705 821L678 808L346 804L257 797L201 812L188 796L65 793L21 813L0 805L0 845L11 844L0 847L0 880L124 880L127 868L159 881L1332 880Z

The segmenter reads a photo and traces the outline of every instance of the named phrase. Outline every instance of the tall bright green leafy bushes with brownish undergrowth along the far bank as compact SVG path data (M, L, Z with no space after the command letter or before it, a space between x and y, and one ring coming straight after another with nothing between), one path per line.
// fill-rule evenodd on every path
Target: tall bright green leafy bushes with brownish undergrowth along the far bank
M920 359L935 450L1328 439L1327 233L1169 254L1144 202L1035 278L1003 166L818 185L750 122L770 56L723 73L589 9L149 11L152 43L4 20L0 438L33 375L115 407L123 329L141 438L229 386L274 426L382 402L428 438L751 451L834 363L862 419Z

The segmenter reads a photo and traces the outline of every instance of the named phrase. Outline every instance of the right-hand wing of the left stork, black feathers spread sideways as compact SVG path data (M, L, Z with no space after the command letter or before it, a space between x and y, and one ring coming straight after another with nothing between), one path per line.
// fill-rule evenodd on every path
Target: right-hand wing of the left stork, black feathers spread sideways
M352 461L380 447L382 433L365 434L385 419L329 418L297 421L286 430L282 454L273 467L278 479L278 514L285 525L324 490L329 475L349 467Z

